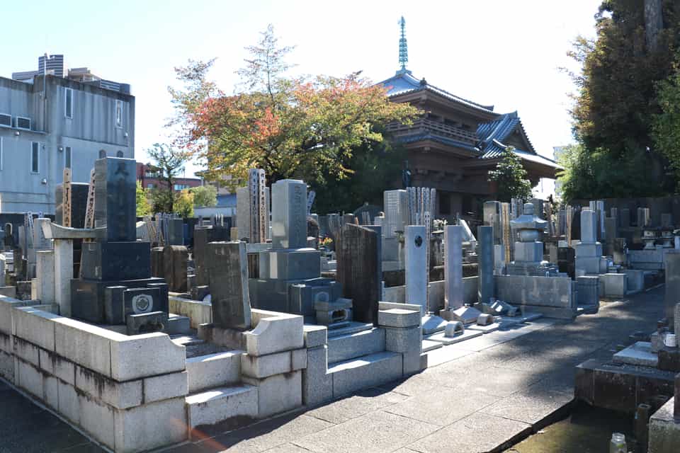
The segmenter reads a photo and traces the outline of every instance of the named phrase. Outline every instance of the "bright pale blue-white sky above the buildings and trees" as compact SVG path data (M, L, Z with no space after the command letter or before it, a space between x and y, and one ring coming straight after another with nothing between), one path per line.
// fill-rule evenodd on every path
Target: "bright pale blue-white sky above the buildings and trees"
M43 53L132 85L136 157L166 136L167 86L187 59L217 57L212 78L225 91L237 79L243 47L273 23L305 74L363 70L374 81L398 68L399 28L407 21L409 69L416 77L501 113L519 110L540 154L572 141L573 90L559 67L578 34L594 35L599 0L573 1L4 1L0 76L37 69ZM193 172L188 167L187 176Z

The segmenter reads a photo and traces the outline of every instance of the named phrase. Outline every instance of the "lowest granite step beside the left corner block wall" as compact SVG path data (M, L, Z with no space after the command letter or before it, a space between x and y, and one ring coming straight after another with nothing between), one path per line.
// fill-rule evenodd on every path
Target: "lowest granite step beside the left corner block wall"
M241 384L186 396L189 427L215 425L235 417L257 418L257 387Z

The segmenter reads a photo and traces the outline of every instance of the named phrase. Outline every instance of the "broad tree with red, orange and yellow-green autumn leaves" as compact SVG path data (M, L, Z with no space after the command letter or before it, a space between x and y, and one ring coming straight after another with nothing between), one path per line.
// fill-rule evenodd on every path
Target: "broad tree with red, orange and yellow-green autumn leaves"
M392 103L385 89L358 73L344 77L291 77L285 57L292 47L278 45L271 25L251 57L237 71L232 96L208 81L211 62L178 68L185 84L172 89L179 139L207 163L210 180L243 180L249 168L263 168L268 182L302 178L319 185L351 177L346 165L353 151L382 142L389 122L409 122L419 110ZM207 145L207 146L206 146Z

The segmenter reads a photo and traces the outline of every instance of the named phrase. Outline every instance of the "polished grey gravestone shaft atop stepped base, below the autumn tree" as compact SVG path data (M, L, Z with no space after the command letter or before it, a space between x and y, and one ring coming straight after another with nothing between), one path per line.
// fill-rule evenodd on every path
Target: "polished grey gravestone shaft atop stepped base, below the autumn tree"
M271 186L271 242L273 248L307 246L307 185L284 179Z

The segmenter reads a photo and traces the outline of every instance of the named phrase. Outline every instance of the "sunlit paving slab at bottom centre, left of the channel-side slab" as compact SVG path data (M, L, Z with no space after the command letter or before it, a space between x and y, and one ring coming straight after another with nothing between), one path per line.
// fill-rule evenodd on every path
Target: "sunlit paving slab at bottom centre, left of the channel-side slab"
M431 423L385 411L375 411L299 438L293 443L312 452L392 452L413 442L414 439L429 435L438 428Z

